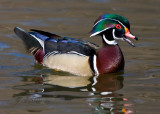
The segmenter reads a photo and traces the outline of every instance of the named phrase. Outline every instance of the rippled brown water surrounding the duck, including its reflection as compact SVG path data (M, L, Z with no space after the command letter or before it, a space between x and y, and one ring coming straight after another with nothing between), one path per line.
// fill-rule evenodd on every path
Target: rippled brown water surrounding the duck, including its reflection
M119 42L123 74L75 77L34 63L13 33L42 29L101 44L89 38L101 14L128 18L139 37L133 48ZM159 0L1 0L0 114L160 113Z

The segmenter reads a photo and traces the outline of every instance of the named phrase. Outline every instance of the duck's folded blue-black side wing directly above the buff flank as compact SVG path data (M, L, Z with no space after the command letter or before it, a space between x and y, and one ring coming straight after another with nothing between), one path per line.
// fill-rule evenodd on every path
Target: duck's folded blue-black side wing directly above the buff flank
M84 56L91 56L95 54L95 48L85 44L74 38L64 37L58 40L48 39L45 41L45 53L68 53L68 54L78 54Z

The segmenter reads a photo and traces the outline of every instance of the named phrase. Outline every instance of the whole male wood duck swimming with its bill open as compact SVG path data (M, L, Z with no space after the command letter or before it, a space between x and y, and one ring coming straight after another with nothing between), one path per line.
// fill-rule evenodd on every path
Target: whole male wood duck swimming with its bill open
M70 72L79 76L91 76L123 71L124 57L117 40L123 40L134 47L127 39L138 40L130 33L129 21L120 15L101 15L94 23L90 37L102 37L103 46L74 38L31 29L25 32L15 27L14 32L20 37L28 52L36 62L46 67Z

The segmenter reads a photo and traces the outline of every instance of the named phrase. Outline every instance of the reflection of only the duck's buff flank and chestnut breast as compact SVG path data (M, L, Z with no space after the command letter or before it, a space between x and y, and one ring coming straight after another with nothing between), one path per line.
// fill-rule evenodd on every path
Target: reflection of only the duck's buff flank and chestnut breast
M43 83L67 88L84 88L87 91L113 92L123 87L123 76L116 74L94 77L43 75Z

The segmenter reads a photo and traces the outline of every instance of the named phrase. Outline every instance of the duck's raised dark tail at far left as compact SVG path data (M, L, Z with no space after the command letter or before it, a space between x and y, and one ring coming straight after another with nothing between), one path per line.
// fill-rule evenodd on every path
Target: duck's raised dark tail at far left
M25 47L29 53L35 54L39 49L42 49L42 46L36 38L31 36L28 32L25 32L19 27L14 28L15 34L22 39Z

